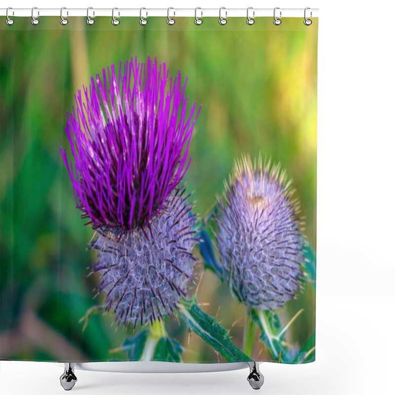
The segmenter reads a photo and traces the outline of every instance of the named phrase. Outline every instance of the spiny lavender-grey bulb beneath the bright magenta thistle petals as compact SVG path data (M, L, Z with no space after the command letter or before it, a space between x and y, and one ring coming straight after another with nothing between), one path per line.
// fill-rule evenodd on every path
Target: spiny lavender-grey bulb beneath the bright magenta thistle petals
M140 229L119 238L121 230L97 230L91 248L100 259L91 273L101 274L96 295L105 293L106 311L114 309L118 325L135 327L162 319L186 296L197 260L191 251L198 241L188 197L173 191L152 219L149 235Z

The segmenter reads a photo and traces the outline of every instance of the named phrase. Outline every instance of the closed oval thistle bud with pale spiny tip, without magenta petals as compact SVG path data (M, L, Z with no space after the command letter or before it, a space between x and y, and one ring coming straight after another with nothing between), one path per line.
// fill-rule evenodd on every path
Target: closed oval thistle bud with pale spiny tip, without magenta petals
M236 163L216 214L224 278L246 306L274 310L300 289L304 238L298 203L279 165Z

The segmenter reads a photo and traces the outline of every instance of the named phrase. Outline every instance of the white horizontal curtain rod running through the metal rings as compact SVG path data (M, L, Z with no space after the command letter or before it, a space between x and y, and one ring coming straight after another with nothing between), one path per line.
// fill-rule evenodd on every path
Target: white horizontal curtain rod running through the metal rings
M0 16L6 15L6 8L0 8ZM34 17L41 16L59 16L60 8L34 8ZM94 8L89 7L89 16L94 18L96 16L112 16L113 8ZM114 15L119 17L144 17L150 16L164 16L164 17L219 17L219 8L115 8ZM274 16L274 8L253 8L249 7L248 15L250 18ZM32 8L9 8L8 17L32 17ZM86 8L63 8L62 16L64 18L72 16L87 16ZM247 8L221 8L221 16L223 18L230 17L247 17ZM303 18L305 16L304 8L280 8L276 7L276 18ZM308 8L306 11L308 18L318 16L318 8Z

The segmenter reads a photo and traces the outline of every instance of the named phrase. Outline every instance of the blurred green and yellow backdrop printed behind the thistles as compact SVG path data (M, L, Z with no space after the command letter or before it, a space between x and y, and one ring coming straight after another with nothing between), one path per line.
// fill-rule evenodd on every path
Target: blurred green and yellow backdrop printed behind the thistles
M202 105L190 146L186 181L196 212L203 218L223 191L223 181L241 154L279 161L296 188L305 218L305 234L316 249L316 59L317 20L260 18L248 26L232 18L220 26L206 18L45 17L0 21L0 358L25 360L124 359L111 353L131 329L112 326L111 316L92 316L84 332L79 318L93 304L98 278L86 277L95 253L86 251L92 236L75 208L71 182L60 156L67 147L66 111L74 94L103 67L137 56L156 56L171 75L188 76L190 104ZM202 272L197 267L197 275ZM193 289L191 290L193 292ZM244 308L225 284L205 271L198 302L230 328L241 346ZM286 322L303 314L288 334L303 344L315 330L315 290L286 304ZM236 322L237 321L237 322ZM235 323L236 322L236 323ZM222 361L196 335L188 341L185 324L168 319L168 332L185 347L183 360ZM254 356L268 358L257 344Z

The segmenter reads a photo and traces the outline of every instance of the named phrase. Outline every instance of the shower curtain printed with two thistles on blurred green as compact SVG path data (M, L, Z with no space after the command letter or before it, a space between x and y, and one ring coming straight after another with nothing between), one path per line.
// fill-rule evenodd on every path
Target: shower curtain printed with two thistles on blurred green
M317 19L0 21L0 359L315 360Z

